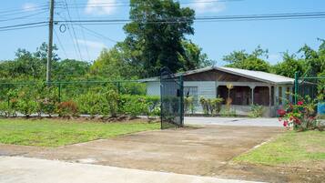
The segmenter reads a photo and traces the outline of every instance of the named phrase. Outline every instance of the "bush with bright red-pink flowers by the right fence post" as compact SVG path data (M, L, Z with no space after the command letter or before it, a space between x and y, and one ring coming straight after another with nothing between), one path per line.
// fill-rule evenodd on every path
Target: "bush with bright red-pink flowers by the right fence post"
M316 103L310 97L301 98L297 105L288 104L278 110L279 122L288 129L292 127L297 131L316 129L320 127L320 121L316 117Z

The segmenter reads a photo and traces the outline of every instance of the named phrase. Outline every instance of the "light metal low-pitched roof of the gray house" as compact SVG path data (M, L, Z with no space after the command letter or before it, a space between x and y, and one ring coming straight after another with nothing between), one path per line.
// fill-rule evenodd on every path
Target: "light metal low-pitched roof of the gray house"
M294 79L286 76L279 76L275 74L270 74L266 72L261 72L261 71L253 71L253 70L246 70L246 69L240 69L240 68L231 68L231 67L225 67L225 66L208 66L205 68L199 68L196 70L189 70L184 73L178 73L175 76L188 76L188 75L193 75L197 73L202 73L202 72L207 72L210 70L219 70L223 71L229 74L237 75L237 76L243 76L243 77L248 77L251 79L256 79L261 82L269 83L269 84L293 84ZM142 82L152 82L152 81L158 81L159 77L149 77L145 79L140 79L139 81Z

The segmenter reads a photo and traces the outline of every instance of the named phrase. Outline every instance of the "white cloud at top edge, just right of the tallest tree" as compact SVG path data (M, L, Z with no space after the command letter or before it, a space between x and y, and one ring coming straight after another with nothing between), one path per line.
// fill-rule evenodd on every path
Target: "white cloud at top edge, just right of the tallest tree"
M193 4L190 7L198 14L218 13L226 9L226 5L223 2L207 2L202 0L193 0Z

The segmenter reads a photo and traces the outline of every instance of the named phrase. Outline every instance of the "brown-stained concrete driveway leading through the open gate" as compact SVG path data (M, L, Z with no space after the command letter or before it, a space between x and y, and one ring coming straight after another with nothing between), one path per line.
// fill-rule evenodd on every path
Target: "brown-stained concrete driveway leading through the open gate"
M274 137L279 127L209 126L140 132L66 147L0 145L4 155L218 176L229 161Z

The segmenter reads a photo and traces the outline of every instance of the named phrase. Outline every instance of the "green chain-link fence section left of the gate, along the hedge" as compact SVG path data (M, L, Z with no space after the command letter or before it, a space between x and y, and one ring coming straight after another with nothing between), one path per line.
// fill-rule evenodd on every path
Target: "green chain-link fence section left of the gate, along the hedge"
M139 81L0 83L0 116L158 117L156 90L148 96Z

